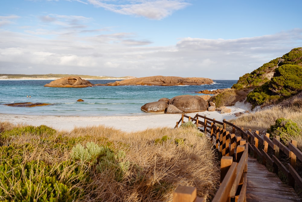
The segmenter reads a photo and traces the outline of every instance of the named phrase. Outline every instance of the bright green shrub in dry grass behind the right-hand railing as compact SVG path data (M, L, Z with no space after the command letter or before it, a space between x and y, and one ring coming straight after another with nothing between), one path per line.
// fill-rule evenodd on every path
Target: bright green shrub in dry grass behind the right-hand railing
M280 139L287 144L291 137L300 135L301 129L291 119L278 118L275 124L271 125L268 133L272 137L279 135Z

